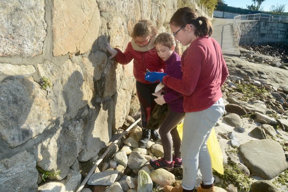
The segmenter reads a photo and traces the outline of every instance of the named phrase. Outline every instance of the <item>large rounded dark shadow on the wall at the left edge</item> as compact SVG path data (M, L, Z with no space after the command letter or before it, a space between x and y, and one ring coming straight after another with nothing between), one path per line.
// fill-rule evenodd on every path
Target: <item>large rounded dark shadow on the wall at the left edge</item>
M32 138L33 132L25 122L35 99L33 88L31 81L13 76L5 78L0 84L0 133L11 148ZM0 146L1 154L5 151L3 147Z

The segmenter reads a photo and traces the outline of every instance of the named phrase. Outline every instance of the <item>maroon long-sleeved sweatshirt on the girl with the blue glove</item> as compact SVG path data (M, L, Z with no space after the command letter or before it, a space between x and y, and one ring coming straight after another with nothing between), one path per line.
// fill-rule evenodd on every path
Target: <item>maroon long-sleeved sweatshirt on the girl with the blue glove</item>
M163 83L183 94L184 111L202 111L211 107L222 93L220 87L228 77L221 47L211 37L194 40L181 57L182 80L164 76Z

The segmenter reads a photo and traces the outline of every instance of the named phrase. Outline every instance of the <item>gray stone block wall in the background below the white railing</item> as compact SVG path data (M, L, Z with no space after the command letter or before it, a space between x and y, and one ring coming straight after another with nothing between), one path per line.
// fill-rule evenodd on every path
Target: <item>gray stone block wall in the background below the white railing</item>
M251 21L240 23L239 45L262 44L268 42L288 43L288 23Z

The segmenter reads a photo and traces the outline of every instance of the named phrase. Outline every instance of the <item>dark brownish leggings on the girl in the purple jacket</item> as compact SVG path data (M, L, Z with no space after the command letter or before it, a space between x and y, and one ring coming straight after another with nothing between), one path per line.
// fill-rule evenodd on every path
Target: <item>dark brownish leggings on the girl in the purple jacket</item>
M159 134L164 150L164 159L166 161L172 161L173 144L175 156L181 158L181 139L177 131L177 125L182 121L182 119L184 119L184 116L184 112L178 113L171 110L159 128Z

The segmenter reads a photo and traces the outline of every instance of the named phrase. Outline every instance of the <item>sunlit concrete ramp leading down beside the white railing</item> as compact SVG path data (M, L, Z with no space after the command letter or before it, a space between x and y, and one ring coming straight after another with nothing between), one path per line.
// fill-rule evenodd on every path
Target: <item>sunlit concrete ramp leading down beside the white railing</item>
M233 19L214 18L212 37L221 45L223 55L240 56L233 29Z

